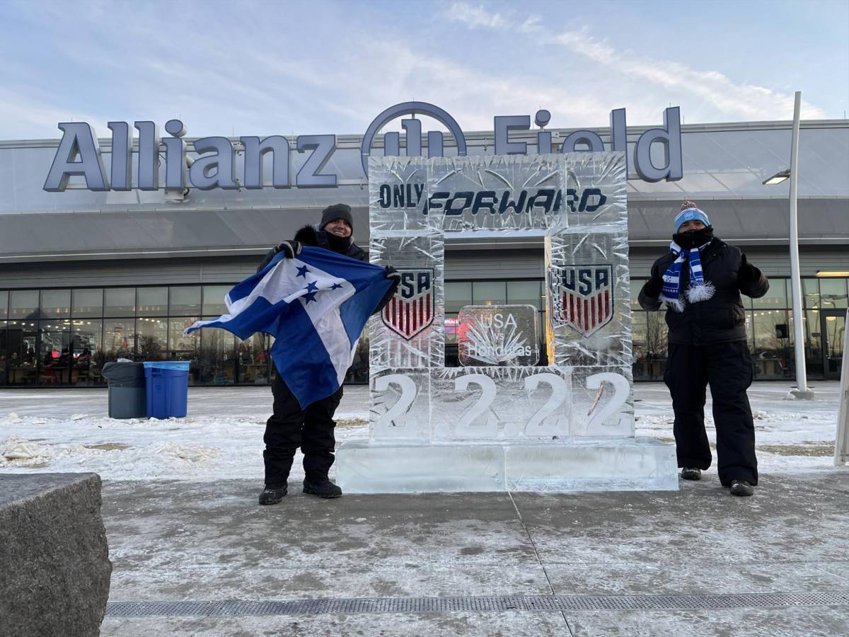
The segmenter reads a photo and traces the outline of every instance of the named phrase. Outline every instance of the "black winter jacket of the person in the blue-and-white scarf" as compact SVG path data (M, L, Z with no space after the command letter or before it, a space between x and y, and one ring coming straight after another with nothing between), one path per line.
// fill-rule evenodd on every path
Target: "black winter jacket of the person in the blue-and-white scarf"
M700 252L702 273L705 281L710 281L717 289L707 301L691 303L686 301L683 291L689 286L689 268L687 263L681 271L682 296L685 305L683 312L666 309L666 325L669 327L668 341L683 345L712 345L731 341L745 341L745 312L740 301L740 292L752 298L760 298L769 290L769 281L760 270L755 268L757 279L742 281L738 279L742 252L734 245L728 245L714 238L711 244ZM663 274L676 256L672 252L661 256L651 267L651 277L655 288L662 281ZM649 296L643 286L639 293L639 304L645 310L653 312L661 308L658 296Z

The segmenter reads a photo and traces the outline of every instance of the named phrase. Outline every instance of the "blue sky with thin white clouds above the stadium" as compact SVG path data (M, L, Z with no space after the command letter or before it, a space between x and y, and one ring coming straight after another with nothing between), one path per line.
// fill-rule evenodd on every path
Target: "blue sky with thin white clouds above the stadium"
M391 104L551 126L849 110L849 0L5 2L0 139L182 117L188 135L363 133Z

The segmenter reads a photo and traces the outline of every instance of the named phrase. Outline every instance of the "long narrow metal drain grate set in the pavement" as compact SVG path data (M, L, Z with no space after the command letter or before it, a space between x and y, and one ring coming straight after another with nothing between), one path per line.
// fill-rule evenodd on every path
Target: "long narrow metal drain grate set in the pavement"
M245 617L406 612L632 611L849 606L849 590L741 595L493 595L293 601L110 601L107 617Z

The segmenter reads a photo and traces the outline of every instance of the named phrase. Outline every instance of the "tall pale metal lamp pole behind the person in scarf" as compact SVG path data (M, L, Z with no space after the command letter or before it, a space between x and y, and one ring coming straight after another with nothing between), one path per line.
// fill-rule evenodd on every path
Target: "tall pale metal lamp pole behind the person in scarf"
M793 104L793 140L790 145L790 283L793 292L793 335L796 340L796 389L788 397L812 400L805 375L805 331L802 324L801 275L799 273L799 223L796 217L796 184L799 180L799 115L801 91L796 91Z

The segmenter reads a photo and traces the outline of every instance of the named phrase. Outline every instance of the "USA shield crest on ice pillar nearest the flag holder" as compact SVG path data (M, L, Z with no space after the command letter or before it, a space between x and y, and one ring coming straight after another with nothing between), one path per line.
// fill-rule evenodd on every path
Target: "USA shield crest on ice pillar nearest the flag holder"
M433 323L433 268L398 268L401 282L392 300L383 308L383 324L408 341L421 334Z

